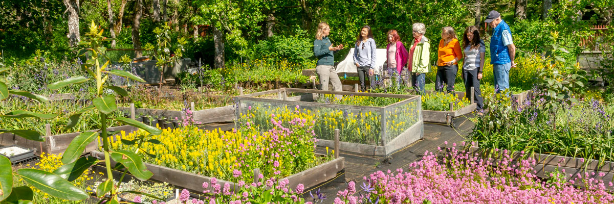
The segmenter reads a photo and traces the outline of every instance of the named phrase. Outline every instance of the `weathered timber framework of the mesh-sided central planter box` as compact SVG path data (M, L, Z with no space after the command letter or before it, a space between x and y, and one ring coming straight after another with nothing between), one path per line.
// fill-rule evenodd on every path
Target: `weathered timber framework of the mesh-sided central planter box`
M289 93L302 93L300 96L288 97ZM261 98L265 95L278 95L277 99ZM338 94L338 95L351 95L351 96L367 96L367 97L392 97L403 99L395 104L387 105L386 107L367 107L358 105L339 105L339 104L323 104L314 102L320 94ZM411 145L422 138L424 134L421 113L421 96L413 95L401 95L401 94L379 94L379 93L355 93L355 92L343 92L343 91L323 91L314 89L295 89L295 88L281 88L273 89L269 91L262 91L260 93L246 94L242 96L236 96L235 101L239 103L237 112L237 119L240 118L241 113L247 113L249 107L252 105L257 106L270 106L270 107L300 107L311 111L330 111L330 110L343 110L345 113L365 113L372 112L379 115L378 126L373 126L374 129L379 130L379 135L368 135L362 142L351 141L345 137L351 135L340 135L340 150L346 153L361 154L367 156L389 156L390 154ZM392 116L398 116L397 110L408 109L413 107L414 117L407 116L406 123L400 129L391 130L386 127L386 124L390 121ZM398 117L397 117L398 118ZM339 121L344 123L344 121ZM398 122L398 121L397 121ZM339 125L341 126L341 125ZM319 142L319 146L334 147L333 145L333 132L316 132ZM367 141L369 140L369 141ZM371 142L372 140L372 142Z

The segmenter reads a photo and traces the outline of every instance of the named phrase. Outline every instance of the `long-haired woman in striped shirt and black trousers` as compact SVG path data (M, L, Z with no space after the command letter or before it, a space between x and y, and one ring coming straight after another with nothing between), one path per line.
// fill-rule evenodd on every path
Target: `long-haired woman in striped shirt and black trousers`
M480 31L475 26L469 26L465 29L463 35L462 47L464 48L464 61L462 66L462 78L465 81L465 97L471 100L471 88L473 87L473 102L476 103L478 115L484 106L482 94L480 91L480 80L482 79L482 71L484 70L484 54L486 53L486 45L484 40L480 39Z

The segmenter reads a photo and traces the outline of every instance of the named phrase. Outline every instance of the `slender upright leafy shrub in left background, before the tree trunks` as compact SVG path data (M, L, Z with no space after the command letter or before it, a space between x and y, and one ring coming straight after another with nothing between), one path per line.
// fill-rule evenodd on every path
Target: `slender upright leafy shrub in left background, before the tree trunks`
M184 51L184 44L186 43L185 39L181 37L177 39L177 44L173 46L171 44L169 32L171 32L171 27L168 26L168 23L165 23L160 28L153 29L153 33L155 33L156 37L156 44L147 43L144 47L145 50L156 59L155 64L158 70L160 70L160 88L164 80L164 70L169 64L181 59ZM175 47L175 51L171 53L173 47Z

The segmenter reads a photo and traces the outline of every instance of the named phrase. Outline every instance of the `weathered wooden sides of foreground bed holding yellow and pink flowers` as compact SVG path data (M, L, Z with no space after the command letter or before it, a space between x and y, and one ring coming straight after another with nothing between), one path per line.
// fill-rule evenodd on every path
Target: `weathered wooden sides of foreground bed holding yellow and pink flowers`
M92 151L91 156L98 159L104 159L104 153L99 151ZM115 161L112 161L112 166L115 165L115 163ZM211 182L211 177L208 176L184 172L182 170L176 170L174 168L163 167L155 164L146 163L145 165L147 170L153 173L153 176L150 179L173 184L173 186L175 186L177 189L188 189L192 192L203 192L203 183ZM97 170L106 171L103 166L95 167ZM317 184L321 184L335 178L337 173L343 171L344 168L345 158L338 157L337 159L333 159L332 161L309 168L303 172L295 173L286 178L290 181L289 186L291 188L296 187L298 184L303 184L305 189L309 189ZM126 174L125 179L130 180L130 175ZM279 181L281 181L281 179L279 179ZM222 186L223 184L228 183L231 187L233 187L233 189L239 189L236 183L230 181L217 179L217 183L221 184ZM246 183L251 183L251 181L246 181Z

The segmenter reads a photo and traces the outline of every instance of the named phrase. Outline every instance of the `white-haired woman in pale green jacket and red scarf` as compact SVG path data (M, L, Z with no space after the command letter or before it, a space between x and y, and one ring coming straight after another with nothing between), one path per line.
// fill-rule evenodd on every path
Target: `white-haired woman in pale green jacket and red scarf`
M430 43L429 39L424 37L426 26L424 23L414 23L412 25L414 41L410 48L410 58L408 59L408 69L413 72L411 80L414 81L414 89L419 94L424 93L424 83L426 73L429 72L430 64Z

